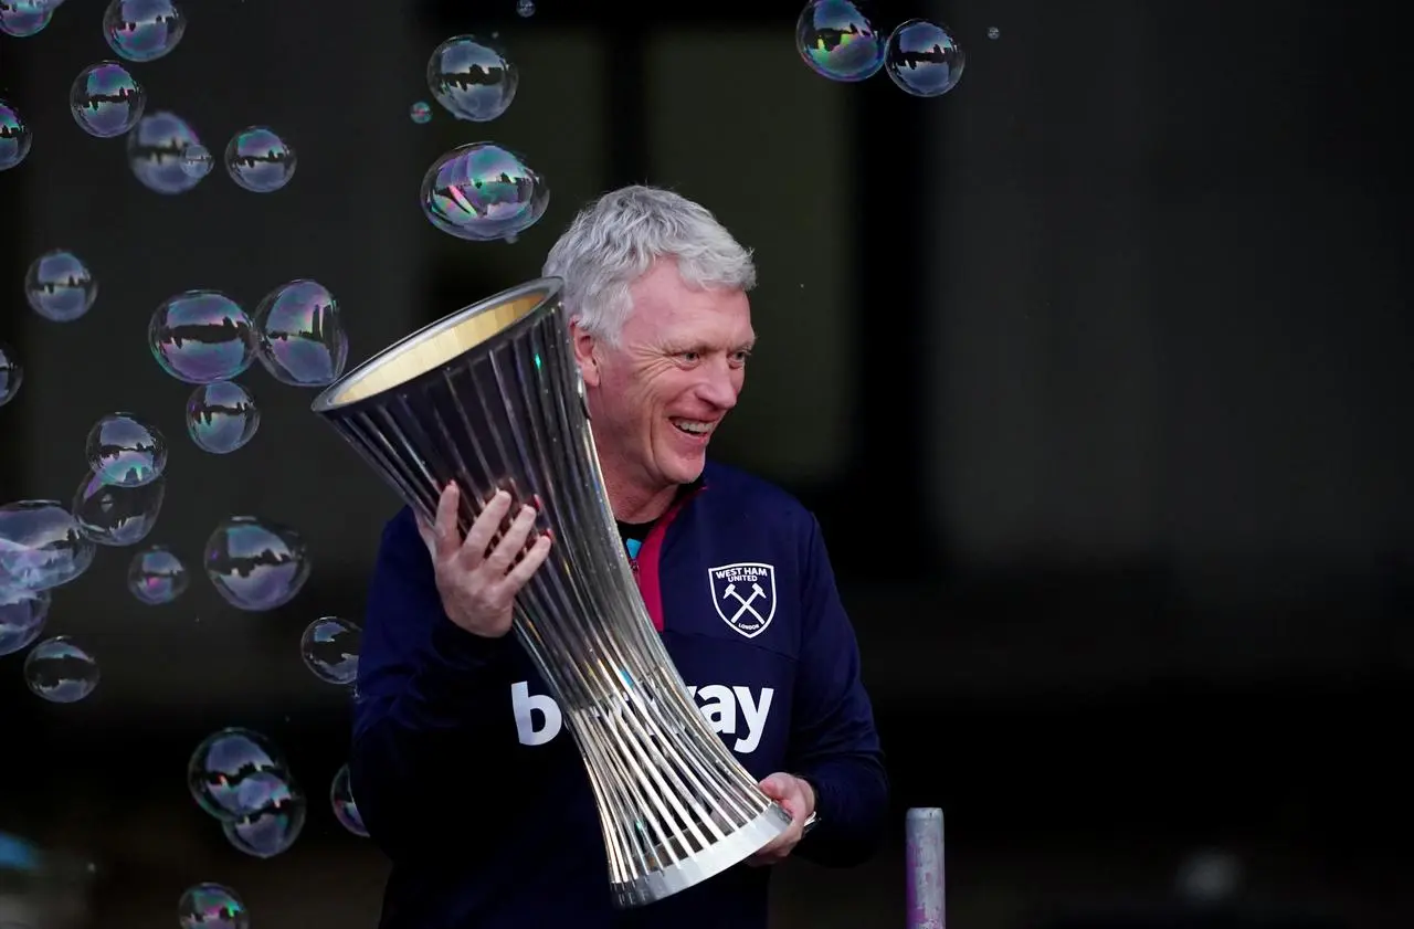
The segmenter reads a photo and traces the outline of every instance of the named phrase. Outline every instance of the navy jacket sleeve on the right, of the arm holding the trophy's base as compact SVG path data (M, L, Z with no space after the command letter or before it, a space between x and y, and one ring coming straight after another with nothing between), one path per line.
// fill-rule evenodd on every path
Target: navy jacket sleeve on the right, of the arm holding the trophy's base
M882 839L889 788L854 626L813 516L803 587L789 758L792 773L814 788L820 824L796 854L826 867L850 867L868 860Z

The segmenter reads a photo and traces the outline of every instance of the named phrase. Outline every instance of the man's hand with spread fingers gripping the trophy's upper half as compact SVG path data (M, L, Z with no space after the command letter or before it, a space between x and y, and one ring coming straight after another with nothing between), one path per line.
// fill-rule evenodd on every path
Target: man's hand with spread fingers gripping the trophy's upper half
M505 534L491 543L510 512L510 493L496 492L486 503L467 537L457 529L461 491L447 485L437 501L437 522L427 526L417 520L417 530L433 557L437 592L447 618L458 626L488 639L510 631L512 604L526 581L550 554L550 534L540 533L529 549L536 510L522 506Z

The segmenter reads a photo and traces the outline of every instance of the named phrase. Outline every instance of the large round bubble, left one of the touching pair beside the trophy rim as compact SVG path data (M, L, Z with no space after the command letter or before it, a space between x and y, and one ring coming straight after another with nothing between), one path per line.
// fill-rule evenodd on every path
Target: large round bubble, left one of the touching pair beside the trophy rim
M236 378L256 359L250 317L215 290L188 290L157 307L147 345L168 375L187 383Z

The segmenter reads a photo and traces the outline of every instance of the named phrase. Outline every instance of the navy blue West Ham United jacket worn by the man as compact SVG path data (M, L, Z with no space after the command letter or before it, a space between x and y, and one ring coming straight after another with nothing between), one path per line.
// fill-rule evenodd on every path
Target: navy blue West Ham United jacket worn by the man
M793 854L865 860L888 782L810 512L708 464L635 567L669 655L741 764L756 779L783 771L816 786L820 824ZM407 509L383 530L358 689L352 792L393 861L382 929L765 928L769 868L612 908L594 799L559 707L513 635L478 638L447 619Z

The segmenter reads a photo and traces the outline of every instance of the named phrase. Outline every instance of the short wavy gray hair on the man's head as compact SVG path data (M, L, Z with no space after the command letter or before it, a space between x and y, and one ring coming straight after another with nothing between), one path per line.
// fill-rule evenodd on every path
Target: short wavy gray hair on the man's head
M751 250L711 212L658 187L633 185L585 206L544 259L543 274L564 280L564 308L587 332L618 342L633 310L629 286L656 259L674 259L690 287L751 290Z

